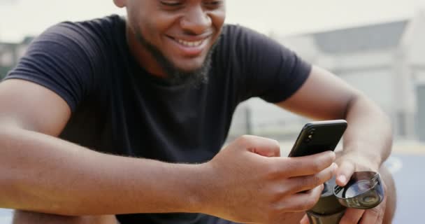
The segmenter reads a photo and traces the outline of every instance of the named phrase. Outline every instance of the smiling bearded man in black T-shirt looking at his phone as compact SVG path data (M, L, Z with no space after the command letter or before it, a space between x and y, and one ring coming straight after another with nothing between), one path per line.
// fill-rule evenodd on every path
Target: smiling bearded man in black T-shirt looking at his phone
M127 20L51 27L0 85L0 207L17 209L15 223L298 223L334 174L344 186L389 156L375 104L266 36L224 26L225 1L115 4ZM250 97L345 118L343 153L280 158L276 141L252 136L220 151ZM342 223L391 222L388 177L387 199Z

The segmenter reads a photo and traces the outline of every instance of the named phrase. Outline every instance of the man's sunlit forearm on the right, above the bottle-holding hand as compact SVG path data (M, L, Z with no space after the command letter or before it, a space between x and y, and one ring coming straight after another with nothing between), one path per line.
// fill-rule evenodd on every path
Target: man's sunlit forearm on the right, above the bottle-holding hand
M392 132L388 116L373 102L359 95L347 105L348 127L344 137L344 151L366 155L381 165L391 153Z

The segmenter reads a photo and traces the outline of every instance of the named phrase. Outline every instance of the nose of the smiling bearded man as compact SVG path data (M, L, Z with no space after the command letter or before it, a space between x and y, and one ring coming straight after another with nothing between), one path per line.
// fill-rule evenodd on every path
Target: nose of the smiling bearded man
M203 34L211 26L211 23L210 16L203 10L202 6L190 7L180 20L182 29L193 35Z

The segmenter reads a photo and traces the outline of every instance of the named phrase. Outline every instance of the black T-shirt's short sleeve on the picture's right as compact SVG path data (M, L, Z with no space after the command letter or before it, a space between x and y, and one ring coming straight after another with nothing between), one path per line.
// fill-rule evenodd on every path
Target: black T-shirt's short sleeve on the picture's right
M245 96L278 103L291 97L308 78L311 65L273 39L238 27L237 58L245 78Z

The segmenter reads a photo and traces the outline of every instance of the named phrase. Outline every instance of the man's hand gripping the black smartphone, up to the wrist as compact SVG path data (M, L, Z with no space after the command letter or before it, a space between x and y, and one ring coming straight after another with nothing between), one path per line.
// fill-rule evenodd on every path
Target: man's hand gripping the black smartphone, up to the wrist
M278 141L240 137L203 165L203 212L240 223L284 221L315 205L335 158L330 151L280 158Z

